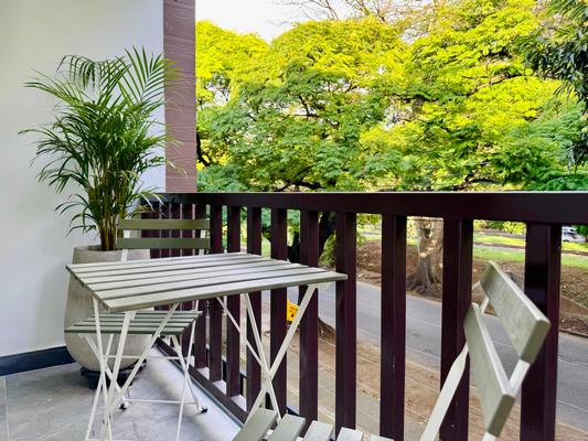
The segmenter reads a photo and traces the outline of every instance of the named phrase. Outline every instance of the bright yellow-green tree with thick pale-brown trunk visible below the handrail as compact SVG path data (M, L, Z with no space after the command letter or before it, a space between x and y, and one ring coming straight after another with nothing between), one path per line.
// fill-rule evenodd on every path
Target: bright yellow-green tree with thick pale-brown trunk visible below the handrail
M431 6L435 20L411 44L406 67L408 110L389 129L391 149L399 149L411 166L391 189L525 185L542 170L560 166L569 137L547 139L542 132L546 120L559 118L547 105L558 84L534 76L515 45L539 25L533 7L530 0ZM544 135L545 142L530 142L531 133ZM417 222L419 260L409 288L431 291L439 281L440 226Z

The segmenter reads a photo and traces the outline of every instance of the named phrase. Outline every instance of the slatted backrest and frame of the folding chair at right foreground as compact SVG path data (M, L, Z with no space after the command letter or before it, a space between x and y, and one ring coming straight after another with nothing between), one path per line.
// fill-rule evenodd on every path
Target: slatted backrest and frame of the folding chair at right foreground
M484 292L481 305L472 303L463 322L467 344L446 378L431 417L420 438L432 441L466 369L469 354L471 374L478 389L485 437L499 437L506 423L523 379L549 331L549 321L518 286L495 262L488 262L480 281ZM507 377L483 321L491 304L518 356Z

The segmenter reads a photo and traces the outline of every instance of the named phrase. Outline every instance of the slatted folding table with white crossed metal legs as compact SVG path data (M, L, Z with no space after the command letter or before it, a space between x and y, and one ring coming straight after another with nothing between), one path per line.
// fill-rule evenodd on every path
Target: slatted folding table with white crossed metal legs
M79 263L68 265L67 269L93 295L98 352L103 354L100 377L106 378L107 375L110 378L118 377L129 324L137 312L146 308L170 306L125 384L119 387L117 381L110 381L110 386L106 389L100 440L111 440L111 413L180 303L216 299L240 336L244 337L246 333L243 332L240 324L228 311L225 297L245 294L247 319L253 324L254 335L254 342L249 342L245 336L245 343L261 366L264 374L261 390L252 410L261 405L266 394L269 394L272 406L277 409L278 404L272 379L312 299L312 294L318 289L323 289L334 281L346 280L346 276L342 273L245 252ZM307 289L298 313L290 324L274 362L269 364L261 345L248 293L300 286L307 286ZM108 312L121 312L125 315L113 369L109 369L104 362L104 359L108 359L110 348L107 347L108 353L105 353L103 347L99 305ZM106 381L104 381L104 387L106 388ZM253 413L252 411L250 415Z

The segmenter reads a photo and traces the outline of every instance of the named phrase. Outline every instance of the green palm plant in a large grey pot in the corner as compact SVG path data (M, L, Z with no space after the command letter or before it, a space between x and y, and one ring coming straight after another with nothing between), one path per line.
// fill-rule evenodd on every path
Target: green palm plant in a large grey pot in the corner
M153 189L141 182L143 172L165 163L167 136L156 112L164 105L164 87L174 73L163 56L132 49L106 61L66 56L56 75L40 75L25 84L57 103L51 123L23 130L36 136L35 159L44 161L39 180L58 193L72 192L56 211L71 215L72 229L95 232L100 239L98 246L76 247L74 263L121 259L116 249L117 224L136 215L142 202L153 196ZM128 258L149 258L149 251L129 250ZM65 326L92 314L88 292L71 279ZM142 338L130 338L126 352L138 354L146 344ZM65 342L82 366L99 370L83 340L66 334ZM121 367L133 359L125 363Z

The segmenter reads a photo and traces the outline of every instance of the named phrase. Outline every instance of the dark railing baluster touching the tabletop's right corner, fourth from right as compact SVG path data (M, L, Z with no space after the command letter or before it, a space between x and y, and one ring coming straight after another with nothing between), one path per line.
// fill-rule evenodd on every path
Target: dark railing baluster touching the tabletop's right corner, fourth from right
M336 271L348 280L335 293L335 430L355 428L356 410L356 225L355 213L336 213Z

